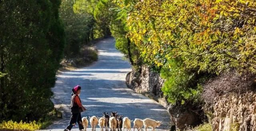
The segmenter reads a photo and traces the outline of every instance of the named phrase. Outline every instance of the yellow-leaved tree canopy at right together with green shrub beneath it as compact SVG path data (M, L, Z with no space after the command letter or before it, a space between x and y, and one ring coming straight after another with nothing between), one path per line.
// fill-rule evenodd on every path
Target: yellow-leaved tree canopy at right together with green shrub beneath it
M204 75L256 73L253 0L114 2L144 63L168 73L163 91L169 102L196 101Z

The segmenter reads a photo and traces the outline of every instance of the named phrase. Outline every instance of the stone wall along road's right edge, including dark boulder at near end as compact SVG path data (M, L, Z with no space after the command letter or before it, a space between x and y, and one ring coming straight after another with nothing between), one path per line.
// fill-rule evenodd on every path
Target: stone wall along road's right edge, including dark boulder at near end
M187 105L168 105L161 91L164 79L157 72L151 71L146 65L142 66L141 71L133 69L128 73L126 84L134 91L158 101L158 103L168 109L170 119L173 125L175 125L172 126L171 131L175 131L175 127L182 130L186 125L197 125L200 123L199 116L192 111L192 107Z

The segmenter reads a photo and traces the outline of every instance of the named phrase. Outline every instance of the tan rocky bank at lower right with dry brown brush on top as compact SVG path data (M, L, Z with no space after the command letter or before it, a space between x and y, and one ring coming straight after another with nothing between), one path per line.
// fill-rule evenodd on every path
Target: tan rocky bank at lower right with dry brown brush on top
M204 85L202 97L214 131L256 131L256 75L220 74Z

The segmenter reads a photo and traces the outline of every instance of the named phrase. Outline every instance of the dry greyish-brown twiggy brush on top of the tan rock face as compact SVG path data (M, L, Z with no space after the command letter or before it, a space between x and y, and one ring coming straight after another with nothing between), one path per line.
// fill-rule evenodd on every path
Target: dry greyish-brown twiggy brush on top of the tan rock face
M202 97L207 106L214 104L214 99L226 93L242 94L253 91L256 75L251 73L239 74L236 71L221 74L204 85Z

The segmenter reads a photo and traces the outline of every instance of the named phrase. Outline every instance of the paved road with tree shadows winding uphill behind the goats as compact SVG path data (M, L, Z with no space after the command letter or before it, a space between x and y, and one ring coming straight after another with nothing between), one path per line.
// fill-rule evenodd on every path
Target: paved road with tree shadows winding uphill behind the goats
M71 89L77 84L82 87L80 98L87 108L87 111L82 113L82 117L102 116L102 112L118 111L120 115L132 120L152 118L163 121L159 129L169 129L170 117L164 107L126 87L125 77L126 73L131 71L131 67L124 60L123 54L116 50L115 40L104 39L96 44L96 48L98 62L57 75L56 85L52 88L54 92L52 101L55 107L61 109L63 119L54 121L50 127L42 131L63 131L68 125ZM72 131L78 131L78 126ZM97 128L96 131L100 129Z

